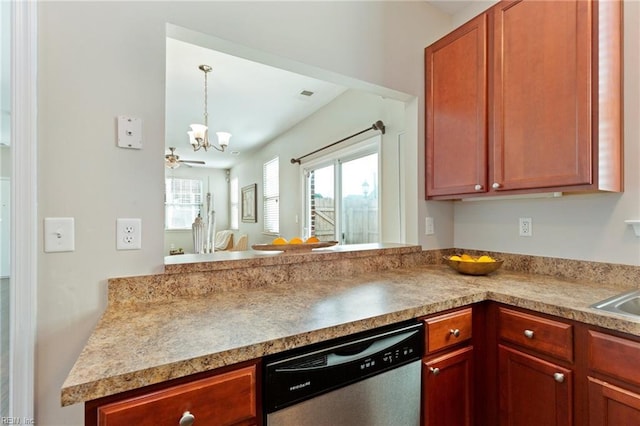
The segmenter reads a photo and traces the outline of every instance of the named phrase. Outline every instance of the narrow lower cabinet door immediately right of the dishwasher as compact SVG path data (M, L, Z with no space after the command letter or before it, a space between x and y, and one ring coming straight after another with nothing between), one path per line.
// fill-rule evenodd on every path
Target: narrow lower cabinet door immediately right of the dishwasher
M425 361L423 426L470 426L473 419L473 347Z

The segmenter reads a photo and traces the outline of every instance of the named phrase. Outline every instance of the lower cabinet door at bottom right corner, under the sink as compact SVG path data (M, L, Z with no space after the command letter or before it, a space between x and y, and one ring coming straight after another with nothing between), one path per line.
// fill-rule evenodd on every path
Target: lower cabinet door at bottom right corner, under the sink
M589 426L640 425L640 395L589 377Z

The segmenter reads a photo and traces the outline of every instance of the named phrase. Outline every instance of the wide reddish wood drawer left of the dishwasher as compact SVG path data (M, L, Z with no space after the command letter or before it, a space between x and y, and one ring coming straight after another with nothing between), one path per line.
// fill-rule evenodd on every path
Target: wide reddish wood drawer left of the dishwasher
M187 411L195 424L255 424L255 366L103 405L98 425L174 426Z

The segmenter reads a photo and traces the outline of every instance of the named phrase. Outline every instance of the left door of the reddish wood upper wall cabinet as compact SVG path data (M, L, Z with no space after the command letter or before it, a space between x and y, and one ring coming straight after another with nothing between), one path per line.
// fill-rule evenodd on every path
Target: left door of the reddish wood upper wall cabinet
M425 50L427 197L486 191L486 20Z

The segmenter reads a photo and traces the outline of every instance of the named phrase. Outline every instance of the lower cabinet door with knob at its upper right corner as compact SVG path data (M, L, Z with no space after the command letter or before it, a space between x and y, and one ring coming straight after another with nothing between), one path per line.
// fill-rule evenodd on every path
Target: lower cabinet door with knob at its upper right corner
M571 370L502 345L498 370L501 425L572 424Z

